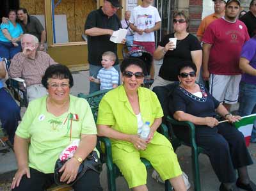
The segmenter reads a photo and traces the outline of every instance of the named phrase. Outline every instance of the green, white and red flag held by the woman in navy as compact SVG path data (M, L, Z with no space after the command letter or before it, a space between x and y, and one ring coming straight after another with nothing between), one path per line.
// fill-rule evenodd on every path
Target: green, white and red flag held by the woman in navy
M236 128L243 133L246 146L249 146L253 123L256 119L256 114L251 114L248 116L243 116L240 121L234 123Z

